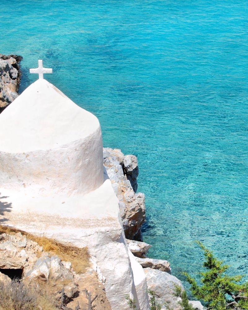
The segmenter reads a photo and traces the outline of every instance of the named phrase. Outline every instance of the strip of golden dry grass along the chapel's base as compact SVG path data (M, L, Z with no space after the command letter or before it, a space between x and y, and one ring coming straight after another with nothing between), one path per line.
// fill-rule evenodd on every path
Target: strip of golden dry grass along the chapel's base
M76 273L85 272L86 268L90 266L90 255L87 247L78 248L70 244L64 245L54 239L50 239L44 236L38 237L22 230L0 225L0 233L13 235L17 232L21 232L23 235L26 235L28 239L37 242L40 246L43 247L44 251L59 256L61 260L71 262L72 267Z

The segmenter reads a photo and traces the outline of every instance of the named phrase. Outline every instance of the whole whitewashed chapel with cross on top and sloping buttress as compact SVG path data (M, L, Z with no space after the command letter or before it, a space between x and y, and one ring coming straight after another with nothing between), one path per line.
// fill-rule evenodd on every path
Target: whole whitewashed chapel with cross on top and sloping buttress
M114 310L149 309L145 275L127 249L104 172L98 119L43 78L0 114L0 224L88 246ZM8 206L8 208L6 207Z

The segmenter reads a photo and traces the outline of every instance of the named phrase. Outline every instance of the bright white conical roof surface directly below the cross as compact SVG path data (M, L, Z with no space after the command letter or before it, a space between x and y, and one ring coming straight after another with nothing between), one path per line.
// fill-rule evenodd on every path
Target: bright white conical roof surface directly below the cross
M0 114L0 150L56 148L91 135L98 119L45 79L31 84Z

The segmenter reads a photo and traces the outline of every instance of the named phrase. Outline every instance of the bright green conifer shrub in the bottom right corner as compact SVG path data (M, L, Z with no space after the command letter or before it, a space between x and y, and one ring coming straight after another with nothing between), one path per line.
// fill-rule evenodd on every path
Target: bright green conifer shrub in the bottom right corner
M248 310L248 283L238 283L242 276L228 276L225 272L228 265L215 258L213 253L206 249L200 241L198 245L204 251L205 261L203 267L206 272L201 272L201 285L188 273L184 273L191 284L191 291L197 299L207 303L208 309L247 309Z

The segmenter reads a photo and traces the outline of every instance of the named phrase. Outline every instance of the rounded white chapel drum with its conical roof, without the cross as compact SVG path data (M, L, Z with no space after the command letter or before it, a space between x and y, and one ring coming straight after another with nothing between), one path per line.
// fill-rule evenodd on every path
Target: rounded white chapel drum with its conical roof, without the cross
M98 119L40 78L0 114L0 187L86 194L104 182Z

